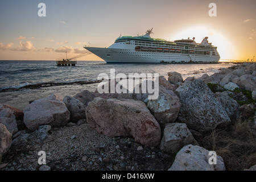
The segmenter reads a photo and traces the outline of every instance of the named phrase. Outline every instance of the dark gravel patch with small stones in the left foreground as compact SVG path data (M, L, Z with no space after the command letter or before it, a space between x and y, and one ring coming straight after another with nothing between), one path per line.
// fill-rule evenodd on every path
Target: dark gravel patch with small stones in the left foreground
M158 147L142 146L133 138L110 138L87 123L52 128L44 139L34 133L20 134L3 156L2 171L163 171L170 156ZM46 166L38 164L39 151L46 152ZM41 167L41 168L40 168Z

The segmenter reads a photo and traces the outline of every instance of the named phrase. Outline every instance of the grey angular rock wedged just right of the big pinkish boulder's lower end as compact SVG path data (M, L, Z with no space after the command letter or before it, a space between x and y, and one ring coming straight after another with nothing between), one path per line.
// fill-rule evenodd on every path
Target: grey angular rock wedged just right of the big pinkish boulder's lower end
M176 154L187 144L199 145L185 123L168 123L164 127L160 149Z

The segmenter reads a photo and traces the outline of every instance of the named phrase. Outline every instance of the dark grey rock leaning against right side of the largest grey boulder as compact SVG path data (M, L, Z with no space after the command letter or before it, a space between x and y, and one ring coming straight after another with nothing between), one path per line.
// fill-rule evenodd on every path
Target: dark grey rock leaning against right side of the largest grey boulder
M236 121L239 118L240 105L233 98L229 97L228 92L216 92L214 96L220 102L222 107L225 109L229 118L232 121Z

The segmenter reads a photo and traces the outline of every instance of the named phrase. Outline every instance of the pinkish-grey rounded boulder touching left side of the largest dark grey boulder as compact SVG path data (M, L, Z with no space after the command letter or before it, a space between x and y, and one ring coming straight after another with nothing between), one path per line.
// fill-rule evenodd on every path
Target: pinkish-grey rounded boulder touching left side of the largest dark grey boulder
M161 124L175 122L180 111L180 100L171 90L159 86L157 100L149 100L148 109L154 113L156 120Z

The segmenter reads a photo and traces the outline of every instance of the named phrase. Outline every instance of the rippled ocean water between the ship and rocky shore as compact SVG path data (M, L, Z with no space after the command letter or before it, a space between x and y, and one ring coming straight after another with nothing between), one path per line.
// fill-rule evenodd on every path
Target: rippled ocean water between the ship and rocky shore
M57 67L56 61L0 61L0 103L24 109L29 101L52 93L75 96L82 90L94 92L100 73L181 73L183 78L209 76L230 64L106 64L105 61L77 61L76 67Z

